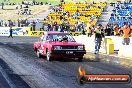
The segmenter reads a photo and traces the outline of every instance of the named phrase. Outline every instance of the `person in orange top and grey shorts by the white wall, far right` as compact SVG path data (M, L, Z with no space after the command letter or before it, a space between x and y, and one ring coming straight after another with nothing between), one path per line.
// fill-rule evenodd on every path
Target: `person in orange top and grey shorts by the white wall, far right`
M129 39L129 34L130 34L130 27L127 22L124 22L124 26L121 28L123 31L123 45L129 45L130 39Z

